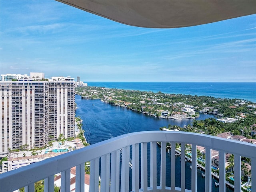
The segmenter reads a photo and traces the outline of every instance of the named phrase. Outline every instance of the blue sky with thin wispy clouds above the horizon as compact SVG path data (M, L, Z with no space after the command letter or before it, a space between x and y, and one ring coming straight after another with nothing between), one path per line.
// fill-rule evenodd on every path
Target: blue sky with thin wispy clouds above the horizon
M256 82L256 14L200 26L127 26L54 0L0 1L0 73L85 82Z

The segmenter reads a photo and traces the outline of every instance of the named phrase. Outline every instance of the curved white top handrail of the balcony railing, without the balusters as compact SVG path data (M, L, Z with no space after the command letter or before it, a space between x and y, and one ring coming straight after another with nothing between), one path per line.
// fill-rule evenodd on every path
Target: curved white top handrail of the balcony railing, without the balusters
M195 144L217 151L256 159L256 153L253 153L253 151L256 151L256 145L246 142L190 132L134 132L0 174L0 191L16 190L115 150L143 142Z

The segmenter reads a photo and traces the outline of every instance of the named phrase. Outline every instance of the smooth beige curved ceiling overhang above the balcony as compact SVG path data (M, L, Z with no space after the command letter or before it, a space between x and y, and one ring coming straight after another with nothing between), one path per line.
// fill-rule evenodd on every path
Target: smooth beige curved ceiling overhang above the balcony
M256 13L254 0L57 0L127 25L196 26Z

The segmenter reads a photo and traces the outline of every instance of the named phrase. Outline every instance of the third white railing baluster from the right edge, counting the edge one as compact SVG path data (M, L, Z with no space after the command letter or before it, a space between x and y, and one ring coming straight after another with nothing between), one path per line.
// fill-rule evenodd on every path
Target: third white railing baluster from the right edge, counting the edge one
M226 191L226 154L219 151L219 191Z

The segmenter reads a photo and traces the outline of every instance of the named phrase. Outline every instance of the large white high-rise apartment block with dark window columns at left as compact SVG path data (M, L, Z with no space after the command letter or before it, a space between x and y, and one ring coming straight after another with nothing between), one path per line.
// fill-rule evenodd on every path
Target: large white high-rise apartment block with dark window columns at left
M61 134L74 136L74 81L0 82L0 158L8 150L41 148Z

